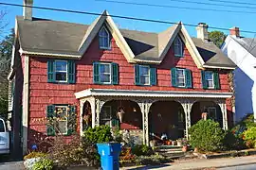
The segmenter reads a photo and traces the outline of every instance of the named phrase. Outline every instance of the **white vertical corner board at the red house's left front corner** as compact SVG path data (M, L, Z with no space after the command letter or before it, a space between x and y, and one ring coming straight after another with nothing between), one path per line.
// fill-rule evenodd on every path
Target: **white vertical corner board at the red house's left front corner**
M27 153L27 130L28 130L28 115L29 115L29 56L24 56L24 82L23 82L23 154Z

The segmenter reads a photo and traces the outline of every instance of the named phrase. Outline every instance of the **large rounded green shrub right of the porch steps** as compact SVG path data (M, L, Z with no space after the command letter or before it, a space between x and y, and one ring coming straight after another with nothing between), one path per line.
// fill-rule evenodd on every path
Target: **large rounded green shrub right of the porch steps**
M191 134L190 144L200 151L218 151L223 149L225 132L219 123L213 120L200 120L193 125L189 133Z

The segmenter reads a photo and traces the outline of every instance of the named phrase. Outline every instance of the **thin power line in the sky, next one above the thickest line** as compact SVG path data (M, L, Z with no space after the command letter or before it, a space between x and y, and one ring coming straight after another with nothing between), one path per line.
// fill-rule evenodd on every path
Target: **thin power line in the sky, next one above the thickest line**
M126 5L135 5L135 6L146 6L146 7L156 7L156 8L183 8L190 10L205 10L205 11L220 11L220 12L229 12L229 13L250 13L255 14L255 11L245 11L245 10L229 10L229 9L217 9L217 8L190 8L190 7L180 7L180 6L168 6L168 5L158 5L158 4L146 4L146 3L136 3L136 2L127 2L127 1L116 1L116 0L95 0L106 3L116 3L116 4L126 4ZM227 6L225 6L227 7Z

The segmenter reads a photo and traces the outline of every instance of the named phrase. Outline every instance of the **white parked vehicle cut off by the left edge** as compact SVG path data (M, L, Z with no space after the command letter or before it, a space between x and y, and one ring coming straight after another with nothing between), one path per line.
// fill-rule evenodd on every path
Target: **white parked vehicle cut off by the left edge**
M2 118L0 118L0 154L9 154L9 130Z

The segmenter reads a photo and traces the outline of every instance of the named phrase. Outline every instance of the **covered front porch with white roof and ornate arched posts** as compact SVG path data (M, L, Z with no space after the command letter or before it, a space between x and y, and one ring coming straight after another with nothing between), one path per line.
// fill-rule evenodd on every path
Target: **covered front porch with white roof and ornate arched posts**
M228 129L226 100L231 93L88 89L75 95L81 134L86 127L108 125L129 130L142 144L162 134L172 140L188 138L188 129L205 111Z

